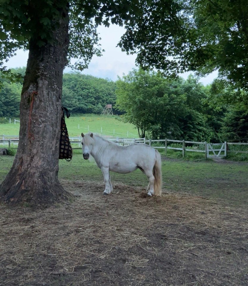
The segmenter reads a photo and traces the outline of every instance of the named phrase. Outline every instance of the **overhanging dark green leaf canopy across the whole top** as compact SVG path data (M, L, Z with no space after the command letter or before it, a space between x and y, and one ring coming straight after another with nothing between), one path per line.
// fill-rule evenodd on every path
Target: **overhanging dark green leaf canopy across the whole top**
M238 88L247 88L248 4L246 0L21 1L1 0L0 66L16 49L53 43L59 11L69 12L68 66L82 70L101 55L97 25L124 26L118 45L136 53L144 68L166 75L186 70L201 75L219 71ZM11 21L10 21L11 19Z

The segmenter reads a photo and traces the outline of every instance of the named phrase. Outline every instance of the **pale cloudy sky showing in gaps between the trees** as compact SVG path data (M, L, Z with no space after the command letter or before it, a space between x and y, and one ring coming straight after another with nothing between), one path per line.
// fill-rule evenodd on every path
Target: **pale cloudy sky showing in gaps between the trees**
M127 55L122 52L117 43L120 41L120 37L124 33L124 28L116 25L111 25L109 28L99 26L98 33L101 37L101 47L105 50L103 56L93 56L89 64L89 68L82 71L83 74L90 74L95 77L108 78L111 80L117 80L117 76L122 77L123 74L128 74L135 66L136 55ZM4 66L7 68L16 68L26 66L28 59L28 52L18 50L17 55L10 58ZM70 72L69 68L65 68L64 72ZM181 74L183 78L187 78L190 73ZM216 73L210 74L207 77L203 77L200 81L207 85L211 83L214 78L217 77Z

